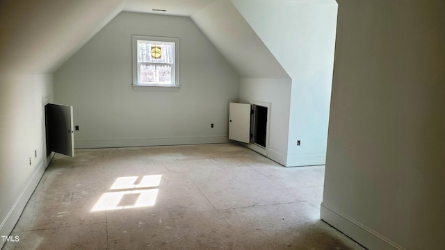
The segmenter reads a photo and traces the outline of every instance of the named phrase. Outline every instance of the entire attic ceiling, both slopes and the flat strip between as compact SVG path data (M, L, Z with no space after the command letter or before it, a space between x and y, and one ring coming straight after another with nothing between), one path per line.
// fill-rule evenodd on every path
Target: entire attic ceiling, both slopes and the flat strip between
M0 0L0 74L54 72L122 10L189 16L241 77L289 78L229 0Z

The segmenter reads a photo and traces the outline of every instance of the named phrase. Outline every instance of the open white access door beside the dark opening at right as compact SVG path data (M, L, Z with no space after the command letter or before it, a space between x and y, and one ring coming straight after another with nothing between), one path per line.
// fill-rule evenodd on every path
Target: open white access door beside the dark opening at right
M250 104L230 103L229 139L250 143Z

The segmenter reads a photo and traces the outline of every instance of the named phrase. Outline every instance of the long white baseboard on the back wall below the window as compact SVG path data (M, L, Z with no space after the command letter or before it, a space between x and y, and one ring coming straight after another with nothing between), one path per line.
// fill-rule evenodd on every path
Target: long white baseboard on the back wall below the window
M116 140L75 140L76 149L96 149L109 147L145 147L145 146L168 146L186 144L212 144L227 143L227 136L202 136L184 138L144 138L144 139L116 139Z

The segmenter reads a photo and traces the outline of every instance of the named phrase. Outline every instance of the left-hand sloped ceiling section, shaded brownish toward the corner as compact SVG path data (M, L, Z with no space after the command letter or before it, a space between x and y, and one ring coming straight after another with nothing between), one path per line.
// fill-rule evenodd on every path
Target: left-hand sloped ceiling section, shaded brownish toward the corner
M54 72L122 10L124 0L1 0L0 74Z

